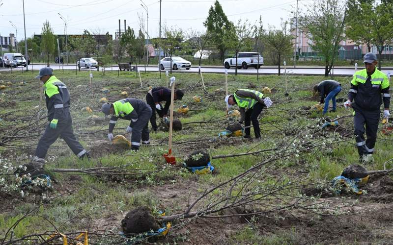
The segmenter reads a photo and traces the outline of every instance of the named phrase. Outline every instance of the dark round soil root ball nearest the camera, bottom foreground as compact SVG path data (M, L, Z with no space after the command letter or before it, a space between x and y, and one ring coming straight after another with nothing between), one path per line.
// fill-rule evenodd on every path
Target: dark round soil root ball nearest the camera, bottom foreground
M158 230L157 222L146 207L139 207L127 213L121 221L124 234L140 234Z

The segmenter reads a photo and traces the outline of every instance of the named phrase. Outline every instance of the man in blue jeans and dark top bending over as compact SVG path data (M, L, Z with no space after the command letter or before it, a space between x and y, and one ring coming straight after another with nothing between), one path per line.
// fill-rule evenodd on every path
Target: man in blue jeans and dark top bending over
M329 112L336 111L336 96L341 91L341 84L335 80L324 80L314 86L314 92L320 94L320 103L325 103L322 114L326 114L329 109L329 101L332 100L333 109Z

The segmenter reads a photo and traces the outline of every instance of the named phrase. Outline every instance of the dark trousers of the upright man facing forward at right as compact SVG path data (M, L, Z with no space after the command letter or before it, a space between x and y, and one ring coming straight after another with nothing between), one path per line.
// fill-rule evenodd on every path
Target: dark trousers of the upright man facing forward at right
M380 110L365 111L354 108L355 140L359 155L374 153L375 141L377 140ZM364 134L367 135L365 140Z

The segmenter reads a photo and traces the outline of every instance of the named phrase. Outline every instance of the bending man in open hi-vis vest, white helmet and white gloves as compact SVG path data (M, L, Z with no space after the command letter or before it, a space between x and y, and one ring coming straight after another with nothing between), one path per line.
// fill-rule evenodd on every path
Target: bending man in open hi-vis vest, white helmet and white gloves
M259 139L261 137L258 116L262 112L262 109L266 106L269 108L273 102L270 98L263 98L261 92L251 90L251 89L239 89L233 95L227 95L225 97L225 102L228 107L237 104L240 111L239 123L242 124L244 121L245 125L245 136L244 138L251 138L251 122L253 122L253 128L255 133L255 138ZM247 111L246 111L247 109Z

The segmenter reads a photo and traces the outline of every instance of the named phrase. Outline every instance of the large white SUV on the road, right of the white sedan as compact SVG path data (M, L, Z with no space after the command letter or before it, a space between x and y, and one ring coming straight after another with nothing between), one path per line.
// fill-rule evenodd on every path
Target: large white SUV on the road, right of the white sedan
M258 57L259 57L259 66L258 66ZM249 67L253 67L255 69L261 68L263 65L263 57L260 53L257 52L239 52L237 54L237 68L238 69L248 69ZM236 66L236 55L233 55L232 58L227 58L224 60L225 69L229 69L231 67Z

